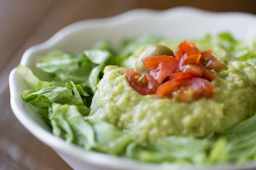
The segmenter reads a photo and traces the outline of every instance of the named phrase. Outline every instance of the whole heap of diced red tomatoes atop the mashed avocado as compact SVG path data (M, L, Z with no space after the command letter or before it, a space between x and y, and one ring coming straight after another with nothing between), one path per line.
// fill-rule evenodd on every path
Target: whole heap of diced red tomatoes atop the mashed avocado
M125 72L130 86L142 95L156 94L159 98L191 102L213 95L215 71L226 67L212 56L211 50L200 52L192 41L184 40L174 56L153 56L143 58L149 74L132 69ZM211 71L215 70L215 71Z

